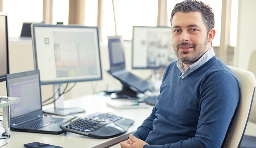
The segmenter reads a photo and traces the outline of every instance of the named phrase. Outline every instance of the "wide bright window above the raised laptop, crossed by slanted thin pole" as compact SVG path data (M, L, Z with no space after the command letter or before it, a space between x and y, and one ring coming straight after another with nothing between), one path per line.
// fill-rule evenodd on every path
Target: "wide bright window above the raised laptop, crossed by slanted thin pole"
M117 35L132 39L133 26L157 25L157 0L114 0ZM103 41L115 35L112 0L104 0Z

